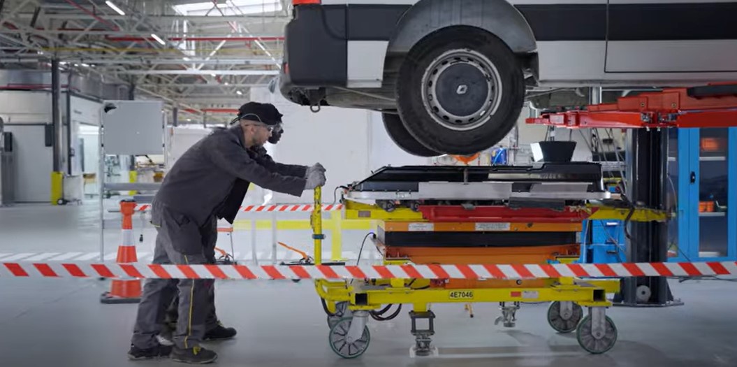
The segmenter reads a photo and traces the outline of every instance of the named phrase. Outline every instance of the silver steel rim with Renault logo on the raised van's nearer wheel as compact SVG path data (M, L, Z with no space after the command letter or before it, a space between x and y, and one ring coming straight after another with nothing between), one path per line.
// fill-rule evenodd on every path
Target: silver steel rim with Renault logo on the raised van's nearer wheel
M441 105L441 100L437 97L439 93L447 94L447 90L439 91L439 88L444 88L443 83L439 83L444 73L461 65L472 66L480 74L483 74L486 79L486 90L488 91L483 104L475 112L465 116L458 116L458 114L449 111L447 106ZM447 81L445 83L447 84ZM456 94L465 95L469 90L472 93L478 92L480 85L468 84L461 83L457 85ZM502 95L501 77L497 67L488 57L470 49L454 49L444 52L430 63L430 67L427 68L422 77L422 103L425 106L425 111L433 116L433 119L439 125L450 130L473 130L489 122L491 116L499 108Z

